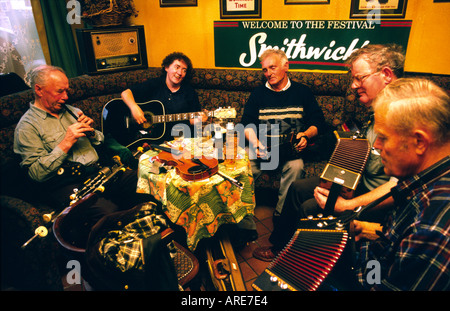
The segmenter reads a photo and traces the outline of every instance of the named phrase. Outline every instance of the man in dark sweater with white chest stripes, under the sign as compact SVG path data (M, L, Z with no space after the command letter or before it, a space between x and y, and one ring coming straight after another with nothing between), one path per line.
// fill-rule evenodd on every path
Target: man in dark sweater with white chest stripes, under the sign
M324 130L325 118L311 90L289 79L289 62L283 51L268 49L260 61L267 82L251 93L241 123L249 142L255 180L261 170L281 169L275 209L275 214L280 214L290 184L303 177L301 152ZM291 133L299 140L294 152L289 142L284 144Z

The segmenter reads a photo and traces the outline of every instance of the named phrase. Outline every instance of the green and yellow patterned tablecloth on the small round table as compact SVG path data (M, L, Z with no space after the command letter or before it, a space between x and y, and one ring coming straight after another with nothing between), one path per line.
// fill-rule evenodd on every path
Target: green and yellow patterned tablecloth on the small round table
M242 183L243 189L218 174L200 181L185 181L173 167L160 167L157 150L144 153L139 159L138 193L148 193L163 204L169 219L187 233L187 245L195 250L203 238L213 236L222 224L238 223L253 215L255 191L250 161L239 150L235 168L223 163L219 170Z

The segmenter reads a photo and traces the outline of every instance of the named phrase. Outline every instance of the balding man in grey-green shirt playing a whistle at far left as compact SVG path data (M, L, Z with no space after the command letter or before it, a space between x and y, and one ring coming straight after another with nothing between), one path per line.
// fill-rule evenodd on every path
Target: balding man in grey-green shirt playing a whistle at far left
M31 87L35 100L17 124L14 152L36 193L59 212L70 205L75 188L102 172L104 136L92 128L91 118L66 106L69 80L61 68L39 66L32 72ZM83 247L91 227L104 215L148 201L136 194L136 184L136 172L124 169L101 196L71 215L72 236L66 238Z

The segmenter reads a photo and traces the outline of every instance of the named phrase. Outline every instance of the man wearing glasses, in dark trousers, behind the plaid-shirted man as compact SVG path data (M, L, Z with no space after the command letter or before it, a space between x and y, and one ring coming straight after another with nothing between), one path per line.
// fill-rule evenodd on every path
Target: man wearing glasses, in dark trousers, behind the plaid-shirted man
M352 74L352 89L358 95L359 101L369 110L372 110L372 101L385 86L403 76L404 54L402 48L397 45L367 45L358 49L347 59ZM373 120L368 120L363 128L363 134L373 146L376 134L373 130ZM283 212L274 217L274 230L269 238L272 246L259 247L254 250L255 258L264 261L272 261L277 253L287 244L297 229L298 220L308 215L316 216L323 211L327 201L329 190L318 187L318 176L300 179L293 182L289 188L284 203ZM339 196L335 213L353 210L364 206L384 194L397 183L395 178L390 178L384 173L381 157L377 150L372 148L367 161L362 180L352 199L344 199ZM381 207L388 206L392 199L382 202ZM381 215L380 215L381 216ZM368 216L367 220L375 221L376 215ZM377 224L356 222L356 240L368 237L375 229L380 229Z

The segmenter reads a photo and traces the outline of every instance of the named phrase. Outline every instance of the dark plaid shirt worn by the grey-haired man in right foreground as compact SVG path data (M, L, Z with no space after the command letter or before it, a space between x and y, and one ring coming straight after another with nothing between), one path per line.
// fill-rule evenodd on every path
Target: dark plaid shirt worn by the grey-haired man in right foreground
M372 290L450 289L450 164L438 165L437 180L412 184L417 176L393 188L395 208L384 226L384 236L361 245L358 278ZM381 267L380 284L373 276L370 260ZM368 266L368 267L366 267Z

